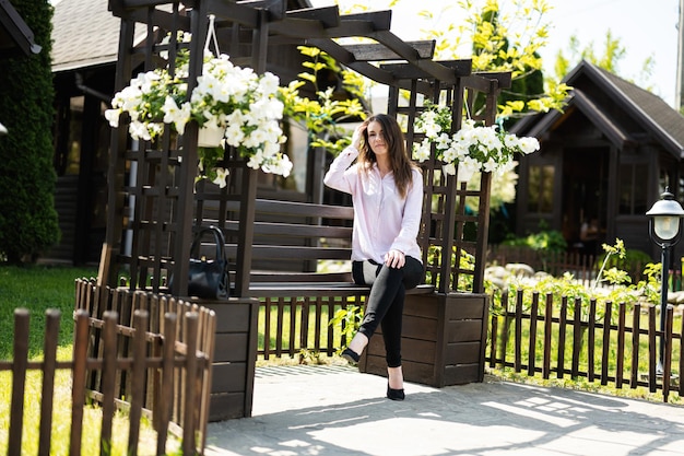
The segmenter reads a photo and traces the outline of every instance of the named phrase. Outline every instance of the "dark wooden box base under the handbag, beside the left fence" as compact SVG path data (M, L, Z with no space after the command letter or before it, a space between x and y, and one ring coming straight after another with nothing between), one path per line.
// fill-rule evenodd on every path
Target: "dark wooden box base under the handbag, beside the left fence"
M209 421L251 417L259 300L203 301L216 313Z

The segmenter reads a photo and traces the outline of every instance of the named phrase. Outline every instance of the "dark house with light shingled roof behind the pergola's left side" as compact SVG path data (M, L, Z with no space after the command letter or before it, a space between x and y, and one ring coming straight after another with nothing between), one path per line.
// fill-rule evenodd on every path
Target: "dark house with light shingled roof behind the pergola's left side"
M62 236L60 244L54 246L45 259L92 264L99 260L106 232L106 179L111 129L104 112L110 107L115 93L120 20L103 0L57 0L54 5L54 163L58 175L55 207ZM309 7L308 0L287 2L288 10ZM146 43L144 27L135 30L134 35L134 43L141 46ZM219 39L221 50L229 51L236 65L246 65L234 59L236 49L231 47L229 42L222 37ZM286 43L269 50L267 70L287 83L297 78L303 60L296 44ZM143 62L132 69L130 77L141 71ZM299 149L305 149L306 136L299 142L304 142ZM283 190L278 188L278 183L262 184L264 188ZM296 187L305 189L306 183L296 183ZM298 192L302 191L305 190Z

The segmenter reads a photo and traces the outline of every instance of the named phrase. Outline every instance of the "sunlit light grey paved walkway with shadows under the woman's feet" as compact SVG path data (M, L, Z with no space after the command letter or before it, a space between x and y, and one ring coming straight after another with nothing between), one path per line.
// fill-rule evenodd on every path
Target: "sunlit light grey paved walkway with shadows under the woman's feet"
M490 382L432 388L347 366L258 367L252 418L210 423L208 456L684 455L684 408Z

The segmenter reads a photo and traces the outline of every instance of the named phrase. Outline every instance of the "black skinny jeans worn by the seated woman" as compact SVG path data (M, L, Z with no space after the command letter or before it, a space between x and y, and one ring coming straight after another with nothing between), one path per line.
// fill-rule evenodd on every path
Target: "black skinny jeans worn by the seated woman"
M370 285L366 313L358 332L370 339L378 324L381 325L388 367L401 365L401 323L405 291L417 287L424 272L423 264L409 256L401 268L390 268L373 260L352 264L354 282Z

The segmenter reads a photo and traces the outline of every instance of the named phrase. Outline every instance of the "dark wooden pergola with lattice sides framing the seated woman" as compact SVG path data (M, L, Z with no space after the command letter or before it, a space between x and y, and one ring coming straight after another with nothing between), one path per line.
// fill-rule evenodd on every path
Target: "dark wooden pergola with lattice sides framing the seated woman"
M216 34L222 48L228 50L236 65L250 66L261 73L267 66L270 45L302 44L328 52L340 63L389 86L388 113L405 118L409 145L422 139L413 130L414 119L426 101L446 102L452 108L452 128L461 125L465 104L476 94L484 96L481 119L491 125L496 112L499 90L510 84L509 73L473 74L470 60L434 61L434 42L406 43L390 31L391 11L340 15L337 7L287 10L284 0L225 1L197 0L169 2L161 0L110 0L109 9L121 19L116 90L128 84L134 68L152 70L166 60L169 65L181 47L190 52L188 93L202 71L203 46L209 15L215 15ZM148 28L149 39L133 43L135 27ZM177 32L190 32L190 43L178 43ZM168 45L161 38L170 36ZM343 45L338 38L361 37L372 44ZM173 68L172 68L173 70ZM408 96L402 96L406 91ZM482 100L482 98L481 98ZM470 109L472 113L473 110ZM185 135L174 137L166 129L154 143L132 143L122 125L111 139L108 173L107 234L101 258L101 284L116 285L127 274L131 289L169 292L181 295L187 288L188 259L193 226L208 223L207 207L219 207L217 220L225 225L226 207L239 206L235 232L235 284L233 296L249 293L251 247L253 241L253 207L257 173L247 168L239 157L226 152L236 186L221 191L196 188L197 124L191 122ZM459 277L472 276L473 292L483 291L484 260L487 244L490 175L483 174L479 190L467 190L453 176L441 172L440 163L424 163L425 208L421 236L424 259L436 290L456 290ZM239 176L239 177L238 177ZM464 199L477 198L477 214L467 214ZM215 213L215 212L212 212ZM476 241L463 238L467 223L476 226ZM128 246L128 247L126 247ZM443 258L427 261L427 252L439 248ZM461 249L475 256L475 269L463 270L451 255L460 257ZM172 290L165 279L178 280Z

